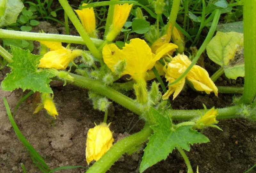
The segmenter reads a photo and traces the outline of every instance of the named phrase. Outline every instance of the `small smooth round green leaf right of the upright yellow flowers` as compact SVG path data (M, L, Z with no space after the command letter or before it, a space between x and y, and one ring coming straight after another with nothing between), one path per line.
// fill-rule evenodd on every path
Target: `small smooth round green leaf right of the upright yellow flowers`
M145 19L137 18L132 21L132 30L138 34L148 32L150 23Z

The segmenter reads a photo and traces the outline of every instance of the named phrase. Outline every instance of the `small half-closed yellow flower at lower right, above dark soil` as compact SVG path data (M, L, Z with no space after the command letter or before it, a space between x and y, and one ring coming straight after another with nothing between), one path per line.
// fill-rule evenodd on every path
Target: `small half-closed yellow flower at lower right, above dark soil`
M216 120L217 114L218 110L212 107L212 109L207 111L200 119L196 121L196 128L200 129L204 126L209 126L218 123L218 121Z

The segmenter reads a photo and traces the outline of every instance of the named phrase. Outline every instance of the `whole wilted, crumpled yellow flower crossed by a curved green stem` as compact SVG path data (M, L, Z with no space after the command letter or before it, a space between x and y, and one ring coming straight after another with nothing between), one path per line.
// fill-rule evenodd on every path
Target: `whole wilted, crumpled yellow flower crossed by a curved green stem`
M178 54L175 56L173 60L167 64L167 69L164 67L166 81L169 83L175 81L182 73L185 72L190 64L191 61L186 55ZM210 94L210 92L213 91L215 96L218 95L218 89L209 77L208 72L204 68L194 65L188 72L187 76L181 79L178 83L169 86L169 90L163 95L163 99L168 99L173 92L173 99L177 97L185 84L185 78L193 84L196 90L205 91L207 94Z

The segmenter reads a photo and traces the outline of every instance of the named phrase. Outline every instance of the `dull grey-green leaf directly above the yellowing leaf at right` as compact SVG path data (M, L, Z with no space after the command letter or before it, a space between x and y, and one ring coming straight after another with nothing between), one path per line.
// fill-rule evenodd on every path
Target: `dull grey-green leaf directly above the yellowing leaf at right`
M239 32L243 33L244 32L244 26L243 26L243 21L239 22L232 22L232 23L227 23L227 24L219 24L217 25L217 31L220 32Z

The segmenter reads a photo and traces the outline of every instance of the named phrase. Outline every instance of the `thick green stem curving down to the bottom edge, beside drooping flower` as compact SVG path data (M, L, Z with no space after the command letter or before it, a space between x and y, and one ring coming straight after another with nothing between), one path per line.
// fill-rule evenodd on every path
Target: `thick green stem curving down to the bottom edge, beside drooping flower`
M123 155L129 149L136 147L146 141L148 137L153 133L148 124L145 124L144 128L135 134L132 134L120 141L118 141L113 147L111 147L106 154L104 154L100 160L95 162L86 173L105 173L117 159Z

